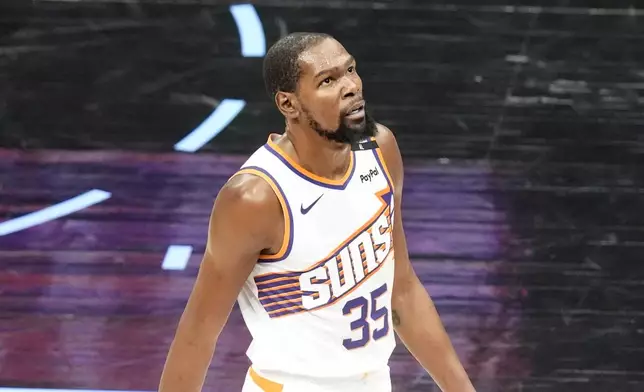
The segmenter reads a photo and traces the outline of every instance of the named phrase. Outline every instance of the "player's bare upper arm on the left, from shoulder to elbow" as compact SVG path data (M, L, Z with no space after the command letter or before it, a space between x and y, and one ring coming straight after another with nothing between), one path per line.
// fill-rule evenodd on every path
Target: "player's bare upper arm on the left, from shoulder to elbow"
M184 312L191 330L218 337L260 252L275 242L275 222L280 219L279 200L263 179L239 174L224 185L214 203L206 251Z

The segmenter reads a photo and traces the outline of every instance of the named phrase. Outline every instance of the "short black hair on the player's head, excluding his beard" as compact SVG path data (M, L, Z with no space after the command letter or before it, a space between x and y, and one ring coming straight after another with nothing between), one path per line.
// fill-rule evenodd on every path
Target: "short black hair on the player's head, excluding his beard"
M271 99L275 99L278 91L295 92L300 78L300 54L327 38L333 37L324 33L291 33L271 46L264 57L264 84Z

